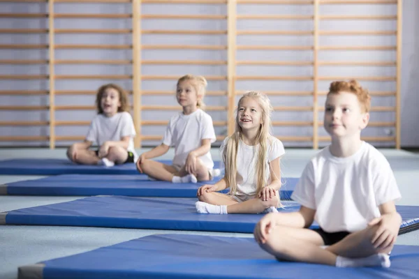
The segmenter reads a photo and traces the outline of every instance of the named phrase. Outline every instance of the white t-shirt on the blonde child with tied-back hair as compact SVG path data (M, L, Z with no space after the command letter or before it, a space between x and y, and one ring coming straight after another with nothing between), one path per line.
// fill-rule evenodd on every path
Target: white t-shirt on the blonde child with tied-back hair
M163 136L163 144L175 146L173 165L184 166L189 153L201 146L202 140L207 139L211 142L216 140L212 118L198 109L188 115L179 112L172 116ZM214 167L210 151L199 158L208 168Z

